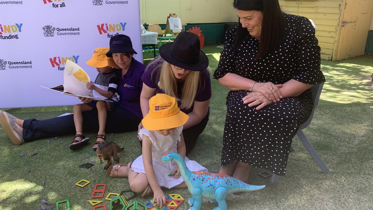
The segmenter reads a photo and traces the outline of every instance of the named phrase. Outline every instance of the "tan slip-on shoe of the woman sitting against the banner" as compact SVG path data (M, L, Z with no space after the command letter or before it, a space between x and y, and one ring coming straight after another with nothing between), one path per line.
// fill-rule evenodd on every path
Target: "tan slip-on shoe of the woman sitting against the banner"
M14 145L20 145L25 142L22 137L22 131L17 128L18 125L8 117L6 112L0 113L0 123Z

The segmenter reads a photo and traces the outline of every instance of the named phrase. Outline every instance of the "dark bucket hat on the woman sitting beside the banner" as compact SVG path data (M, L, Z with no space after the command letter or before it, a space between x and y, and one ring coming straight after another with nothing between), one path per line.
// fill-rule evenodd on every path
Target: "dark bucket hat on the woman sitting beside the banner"
M135 53L137 52L132 48L132 41L129 36L119 34L110 38L110 50L106 53L107 57L113 57L113 53Z

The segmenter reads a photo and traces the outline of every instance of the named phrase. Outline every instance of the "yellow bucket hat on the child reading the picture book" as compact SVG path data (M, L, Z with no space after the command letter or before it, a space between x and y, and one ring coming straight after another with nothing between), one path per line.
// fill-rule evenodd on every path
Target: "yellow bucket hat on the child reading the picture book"
M111 66L116 69L120 69L120 67L115 64L112 57L106 56L106 53L108 51L109 51L109 48L107 47L95 48L92 54L92 58L85 63L95 68L103 68L106 66Z

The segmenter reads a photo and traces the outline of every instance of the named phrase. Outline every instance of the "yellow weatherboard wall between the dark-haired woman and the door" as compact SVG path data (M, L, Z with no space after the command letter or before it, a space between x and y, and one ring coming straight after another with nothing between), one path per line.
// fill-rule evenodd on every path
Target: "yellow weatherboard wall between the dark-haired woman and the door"
M283 12L304 16L317 26L321 58L331 60L336 43L342 0L279 0Z

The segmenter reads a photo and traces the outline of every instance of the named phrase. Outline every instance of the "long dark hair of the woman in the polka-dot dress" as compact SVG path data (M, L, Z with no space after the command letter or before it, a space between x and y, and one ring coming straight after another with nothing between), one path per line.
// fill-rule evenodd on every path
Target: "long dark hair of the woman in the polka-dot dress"
M255 10L263 12L260 46L255 59L263 58L271 53L285 40L285 19L278 0L234 0L233 7L243 11ZM247 38L247 29L242 28L241 22L238 21L238 31L233 47L234 53Z

